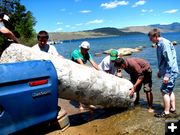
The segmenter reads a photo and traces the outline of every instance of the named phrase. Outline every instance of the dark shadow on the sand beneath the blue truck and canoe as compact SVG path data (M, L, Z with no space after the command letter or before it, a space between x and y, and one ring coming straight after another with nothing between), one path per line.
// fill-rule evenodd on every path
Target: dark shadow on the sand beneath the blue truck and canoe
M93 121L95 119L104 119L111 115L121 113L126 110L127 109L122 109L122 108L108 108L108 109L95 109L93 110L93 112L87 110L86 112L83 113L72 114L69 115L70 126L78 126ZM44 135L53 132L55 130L61 130L61 127L58 125L58 123L49 124L48 122L27 128L12 135L32 135L32 134Z

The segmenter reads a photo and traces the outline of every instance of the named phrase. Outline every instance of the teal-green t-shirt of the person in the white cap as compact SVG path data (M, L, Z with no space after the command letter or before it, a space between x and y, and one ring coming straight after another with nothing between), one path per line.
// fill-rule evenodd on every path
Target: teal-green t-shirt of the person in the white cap
M76 49L71 54L71 60L77 62L78 59L81 59L84 64L87 63L87 60L91 60L92 56L88 52L87 54L83 55L79 49Z

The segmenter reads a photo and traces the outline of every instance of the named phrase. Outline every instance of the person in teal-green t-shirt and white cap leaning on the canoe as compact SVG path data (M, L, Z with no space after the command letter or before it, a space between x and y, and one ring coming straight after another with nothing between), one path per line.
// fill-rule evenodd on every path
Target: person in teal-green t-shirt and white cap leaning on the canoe
M90 49L90 44L87 41L83 41L79 46L80 49L76 49L71 54L71 60L78 63L78 64L86 64L87 61L91 63L91 65L99 70L98 65L92 59L91 54L88 52Z

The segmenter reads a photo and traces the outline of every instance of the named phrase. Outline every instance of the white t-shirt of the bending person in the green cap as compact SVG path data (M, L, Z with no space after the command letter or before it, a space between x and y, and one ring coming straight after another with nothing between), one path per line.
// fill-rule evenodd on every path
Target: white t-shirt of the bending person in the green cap
M101 63L98 65L99 69L102 71L108 71L110 74L115 75L117 68L114 63L110 60L110 55L106 56Z

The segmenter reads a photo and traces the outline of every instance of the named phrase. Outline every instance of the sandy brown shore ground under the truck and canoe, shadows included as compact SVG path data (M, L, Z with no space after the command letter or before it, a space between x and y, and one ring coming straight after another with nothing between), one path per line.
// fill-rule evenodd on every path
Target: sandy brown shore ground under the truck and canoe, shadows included
M155 110L162 111L161 100L155 100ZM70 126L62 130L58 124L41 124L26 129L18 135L164 135L164 118L155 118L154 113L147 112L147 103L141 101L140 105L131 109L95 109L90 113L88 109L79 112L78 102L59 99L59 106L66 110ZM177 102L177 105L179 100ZM179 108L179 107L178 107ZM179 114L179 110L178 110ZM168 120L180 119L180 116Z

